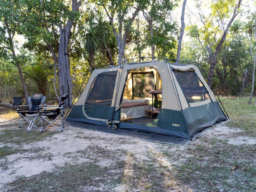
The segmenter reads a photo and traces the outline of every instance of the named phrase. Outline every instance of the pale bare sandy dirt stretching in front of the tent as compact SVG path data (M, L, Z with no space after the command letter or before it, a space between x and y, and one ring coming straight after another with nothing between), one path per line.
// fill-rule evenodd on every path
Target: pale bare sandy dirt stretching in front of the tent
M1 124L5 125L6 123L9 122L0 119L0 129L3 129L3 127L1 128ZM13 123L17 123L17 119ZM4 128L6 128L6 126ZM26 130L24 129L24 131ZM47 131L56 130L52 129ZM239 129L232 129L225 125L220 125L217 128L213 128L202 137L209 138L218 135L219 138L224 138L228 143L233 145L256 144L256 139L253 137L239 137L239 134L235 134L236 137L228 137L230 136L230 133L239 133L240 131L241 130ZM138 160L143 162L143 160L148 160L148 151L157 151L159 153L168 151L175 155L184 152L189 148L193 148L195 145L202 142L204 142L203 139L196 139L186 146L170 145L66 126L63 132L54 134L52 137L46 137L43 141L17 146L26 152L7 156L9 163L2 168L0 167L0 191L7 191L4 187L5 184L15 180L18 176L23 175L29 177L43 171L53 172L55 171L56 166L64 165L64 163L72 165L84 161L93 161L93 150L97 150L97 148L105 148L106 150L113 152L120 150L129 151L135 154ZM6 144L0 143L0 147L3 145ZM13 144L8 145L15 146ZM90 150L90 148L92 150ZM90 158L81 155L82 153L90 154ZM97 158L97 163L100 166L107 166L115 161L115 158L113 157L109 159L94 157L94 160L95 158ZM125 160L127 157L122 158ZM3 160L0 159L0 161ZM164 158L160 159L160 161L164 162L166 166L171 166L172 164L177 163L175 161L170 162ZM122 191L122 186L118 186L115 191Z

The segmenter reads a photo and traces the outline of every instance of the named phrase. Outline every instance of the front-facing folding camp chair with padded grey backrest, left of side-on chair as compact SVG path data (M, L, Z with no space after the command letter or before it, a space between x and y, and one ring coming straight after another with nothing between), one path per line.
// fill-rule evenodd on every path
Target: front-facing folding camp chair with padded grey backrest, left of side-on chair
M27 124L28 130L30 130L32 127L36 127L35 120L38 119L38 106L43 105L45 103L46 96L43 96L42 94L35 94L32 97L28 97L28 103L29 105L20 105L17 106L17 113L19 114L19 128L21 128L23 125ZM22 109L23 107L26 107L26 109ZM39 125L38 121L37 126Z

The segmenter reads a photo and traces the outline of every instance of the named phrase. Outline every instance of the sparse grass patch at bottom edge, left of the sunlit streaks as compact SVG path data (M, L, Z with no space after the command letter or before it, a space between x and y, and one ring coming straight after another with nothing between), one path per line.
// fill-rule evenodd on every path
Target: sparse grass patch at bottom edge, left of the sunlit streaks
M66 163L56 167L55 172L44 171L31 177L19 177L9 183L9 186L12 191L102 191L102 185L113 188L120 182L120 175L116 176L111 172L112 168L90 162L78 165Z

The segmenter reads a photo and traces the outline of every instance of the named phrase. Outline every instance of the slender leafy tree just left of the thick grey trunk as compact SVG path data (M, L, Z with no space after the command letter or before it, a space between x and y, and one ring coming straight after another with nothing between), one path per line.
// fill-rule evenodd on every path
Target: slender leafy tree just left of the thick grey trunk
M68 17L69 7L65 6L61 0L41 1L25 0L23 9L26 17L22 17L22 34L27 41L23 47L29 49L45 58L52 57L54 63L53 88L55 96L58 96L56 89L56 76L58 67L58 39L60 37L57 26L62 23L62 19Z

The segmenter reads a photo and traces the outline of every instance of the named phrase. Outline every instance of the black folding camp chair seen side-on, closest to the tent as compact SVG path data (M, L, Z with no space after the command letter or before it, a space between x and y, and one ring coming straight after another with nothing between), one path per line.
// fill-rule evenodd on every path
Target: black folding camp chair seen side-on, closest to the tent
M41 118L41 133L51 125L58 131L63 131L65 113L64 100L67 98L68 94L64 94L61 96L59 105L45 105L40 108L38 115Z

